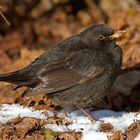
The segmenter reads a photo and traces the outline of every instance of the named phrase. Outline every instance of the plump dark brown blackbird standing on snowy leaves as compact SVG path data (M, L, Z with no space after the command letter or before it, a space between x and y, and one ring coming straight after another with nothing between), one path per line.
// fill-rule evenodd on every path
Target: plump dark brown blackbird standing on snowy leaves
M47 93L64 108L95 105L120 72L122 50L106 24L95 24L54 46L25 68L0 75L0 81L32 88L29 95Z

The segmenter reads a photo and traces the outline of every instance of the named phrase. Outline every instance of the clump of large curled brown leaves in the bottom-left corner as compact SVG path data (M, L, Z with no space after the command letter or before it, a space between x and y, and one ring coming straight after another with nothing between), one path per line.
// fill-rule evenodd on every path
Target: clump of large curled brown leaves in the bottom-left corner
M42 120L35 118L16 118L4 125L0 125L0 138L4 140L36 139L44 140L41 135Z

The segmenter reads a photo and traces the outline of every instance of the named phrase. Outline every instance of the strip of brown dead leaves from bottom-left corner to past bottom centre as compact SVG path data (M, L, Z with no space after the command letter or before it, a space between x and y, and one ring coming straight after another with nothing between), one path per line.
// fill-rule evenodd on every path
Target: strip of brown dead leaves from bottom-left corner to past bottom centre
M7 124L0 124L0 138L4 140L80 140L81 132L54 132L43 128L44 121L35 118L12 119Z

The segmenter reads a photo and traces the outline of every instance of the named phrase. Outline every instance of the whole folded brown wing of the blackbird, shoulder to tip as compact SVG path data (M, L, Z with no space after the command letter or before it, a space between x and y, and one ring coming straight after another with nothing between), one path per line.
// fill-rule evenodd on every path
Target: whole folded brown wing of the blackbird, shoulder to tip
M83 84L103 74L101 67L88 64L91 61L84 50L75 52L70 56L57 58L41 69L38 73L40 84L34 90L46 93L58 92Z

